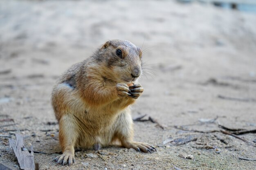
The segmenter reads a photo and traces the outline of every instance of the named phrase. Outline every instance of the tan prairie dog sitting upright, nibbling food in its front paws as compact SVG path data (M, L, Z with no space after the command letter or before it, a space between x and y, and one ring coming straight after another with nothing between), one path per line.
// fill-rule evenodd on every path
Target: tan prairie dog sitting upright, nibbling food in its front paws
M115 141L137 151L156 151L132 140L129 106L144 91L137 82L141 55L129 41L110 40L61 76L52 91L52 106L63 154L54 161L70 165L75 161L74 148L99 150Z

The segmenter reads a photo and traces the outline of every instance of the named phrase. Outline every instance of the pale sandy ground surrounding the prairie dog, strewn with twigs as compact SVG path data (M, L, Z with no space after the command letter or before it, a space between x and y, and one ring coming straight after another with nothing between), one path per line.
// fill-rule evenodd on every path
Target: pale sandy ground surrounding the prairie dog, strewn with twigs
M13 121L0 122L0 135L20 133L25 147L45 152L34 156L40 170L253 170L256 161L238 157L256 159L255 134L239 135L245 142L186 130L220 130L217 123L256 129L255 23L255 14L170 1L1 0L0 120ZM76 152L70 167L56 165L52 86L110 39L148 48L143 60L154 75L141 79L145 91L132 117L146 114L165 127L135 122L135 140L153 144L157 152L110 146ZM178 145L189 137L194 141ZM0 144L0 163L18 170L7 138L0 137Z

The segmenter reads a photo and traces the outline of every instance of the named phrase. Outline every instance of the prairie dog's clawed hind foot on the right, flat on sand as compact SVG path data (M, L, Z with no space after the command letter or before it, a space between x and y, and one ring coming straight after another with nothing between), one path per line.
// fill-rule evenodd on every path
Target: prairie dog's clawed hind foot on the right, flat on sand
M143 143L143 142L125 142L123 143L123 146L126 148L133 148L135 150L137 150L138 152L142 151L142 152L146 152L146 153L152 153L152 152L156 152L157 150L155 149L154 146L151 146L150 144L147 143Z

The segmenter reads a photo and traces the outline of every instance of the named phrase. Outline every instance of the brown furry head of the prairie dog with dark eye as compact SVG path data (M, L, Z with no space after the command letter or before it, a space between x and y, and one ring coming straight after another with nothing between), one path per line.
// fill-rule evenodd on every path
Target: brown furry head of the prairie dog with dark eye
M141 55L141 49L129 41L110 40L99 49L96 60L104 64L107 78L128 83L141 75Z

